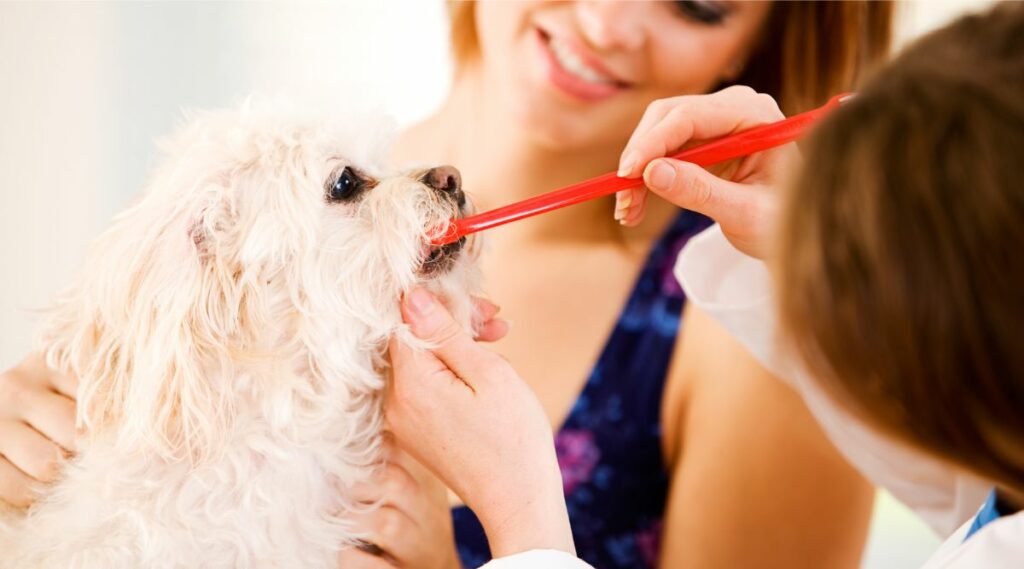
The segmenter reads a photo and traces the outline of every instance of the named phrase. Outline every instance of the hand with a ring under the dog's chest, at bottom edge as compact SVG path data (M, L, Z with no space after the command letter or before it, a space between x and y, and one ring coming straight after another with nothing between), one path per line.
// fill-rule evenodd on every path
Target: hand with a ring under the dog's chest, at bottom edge
M355 499L380 505L351 517L355 530L366 534L366 546L342 551L338 566L459 569L446 488L390 441L386 452L374 483L354 489Z

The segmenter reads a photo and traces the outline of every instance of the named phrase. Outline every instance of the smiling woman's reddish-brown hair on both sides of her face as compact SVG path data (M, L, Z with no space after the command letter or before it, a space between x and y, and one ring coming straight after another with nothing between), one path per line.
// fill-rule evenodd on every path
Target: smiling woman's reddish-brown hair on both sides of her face
M463 68L479 51L475 2L449 0L447 8L452 51L457 68ZM772 95L787 115L817 106L850 90L888 54L892 16L888 1L775 2L758 47L730 84Z

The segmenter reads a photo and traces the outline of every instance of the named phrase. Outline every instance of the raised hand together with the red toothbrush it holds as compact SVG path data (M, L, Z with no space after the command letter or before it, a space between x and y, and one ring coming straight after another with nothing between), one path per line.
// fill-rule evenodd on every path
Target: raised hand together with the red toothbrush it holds
M726 170L727 173L721 177L740 186L764 185L767 180L765 173L779 171L779 163L784 162L784 158L779 157L796 156L796 146L791 143L851 96L836 95L817 108L790 118L782 116L770 96L759 95L750 87L729 87L712 95L655 101L624 151L617 173L611 172L522 202L453 219L443 227L432 228L431 243L434 246L455 243L477 231L612 193L618 193L620 200L615 218L624 220L627 225L636 223L642 217L646 204L646 192L643 187L637 189L639 184L636 178L647 168L648 161L667 157L674 162L662 164L671 168L652 166L645 178L654 185L653 189L670 202L710 215L721 223L737 248L749 255L763 257L765 236L769 234L770 227L765 216L769 220L772 218L775 200L772 198L765 202L752 198L752 194L736 193L732 191L736 187L723 185L720 183L722 180L694 177L699 172L681 164L728 169L730 165L735 166L731 161L743 159L735 169ZM690 141L699 143L690 145ZM669 154L673 148L684 145L685 149ZM784 149L769 152L786 145L791 148L788 152ZM760 157L757 156L759 154ZM658 174L657 179L654 179L655 173ZM676 176L679 176L678 180ZM769 178L774 183L776 176ZM688 184L688 180L695 181L696 185Z

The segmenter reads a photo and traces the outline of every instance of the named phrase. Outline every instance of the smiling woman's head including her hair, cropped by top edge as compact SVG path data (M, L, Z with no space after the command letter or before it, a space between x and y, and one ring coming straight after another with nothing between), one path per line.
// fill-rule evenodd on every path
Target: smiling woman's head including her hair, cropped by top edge
M457 70L539 143L625 143L651 101L750 85L794 113L888 50L889 2L451 2Z

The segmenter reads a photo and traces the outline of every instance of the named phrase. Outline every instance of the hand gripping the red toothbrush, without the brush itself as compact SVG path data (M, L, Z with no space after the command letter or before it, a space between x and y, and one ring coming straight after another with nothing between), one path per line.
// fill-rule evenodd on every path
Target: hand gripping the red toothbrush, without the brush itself
M763 259L778 216L778 185L786 163L796 160L796 144L765 150L711 171L666 159L691 142L725 136L784 119L775 100L750 87L729 87L710 95L656 100L647 107L626 144L618 175L643 176L646 187L615 195L615 218L624 225L640 222L647 189L665 200L711 217L732 245Z

